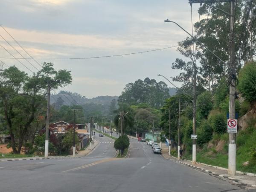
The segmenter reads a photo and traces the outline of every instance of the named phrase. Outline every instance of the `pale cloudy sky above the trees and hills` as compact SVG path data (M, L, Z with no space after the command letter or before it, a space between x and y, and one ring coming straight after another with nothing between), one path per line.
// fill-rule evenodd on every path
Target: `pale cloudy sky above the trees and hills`
M193 23L199 18L198 7L192 6ZM119 96L126 84L146 77L172 87L157 74L176 76L180 71L173 70L172 63L183 57L174 47L120 57L52 58L119 55L177 46L187 35L175 24L165 23L167 18L192 32L188 0L1 0L0 12L0 24L33 58L48 58L38 62L51 62L57 70L69 70L73 81L65 89L87 98ZM29 58L2 28L0 35ZM3 38L0 45L20 58ZM12 56L0 47L0 57ZM0 61L32 74L15 59ZM37 71L27 61L20 62ZM30 62L39 68L35 61Z

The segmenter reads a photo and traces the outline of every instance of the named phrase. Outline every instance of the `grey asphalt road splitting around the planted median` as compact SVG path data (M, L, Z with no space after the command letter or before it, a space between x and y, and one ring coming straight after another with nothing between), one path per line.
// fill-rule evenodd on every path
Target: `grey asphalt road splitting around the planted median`
M96 139L99 145L86 157L0 162L0 192L247 191L163 159L134 139L128 158L112 158L113 140L97 134Z

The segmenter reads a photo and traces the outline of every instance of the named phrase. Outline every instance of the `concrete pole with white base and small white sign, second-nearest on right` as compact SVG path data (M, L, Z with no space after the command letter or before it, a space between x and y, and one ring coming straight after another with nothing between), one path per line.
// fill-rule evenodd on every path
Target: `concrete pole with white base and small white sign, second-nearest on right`
M194 62L194 61L193 61ZM195 131L195 119L196 119L196 65L194 62L194 93L193 93L193 134L196 134ZM193 145L192 145L192 163L196 163L196 140L193 139Z

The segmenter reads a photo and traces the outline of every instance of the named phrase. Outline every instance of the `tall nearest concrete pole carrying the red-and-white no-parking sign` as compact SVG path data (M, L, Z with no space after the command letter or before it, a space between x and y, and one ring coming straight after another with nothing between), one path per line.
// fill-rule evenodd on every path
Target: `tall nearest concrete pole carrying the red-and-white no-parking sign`
M236 77L235 71L235 45L233 41L233 33L234 33L234 15L235 15L235 0L230 1L230 79ZM236 118L236 108L235 108L235 94L236 87L232 85L235 82L231 80L230 83L230 108L229 108L229 119ZM232 82L233 81L233 82ZM228 174L236 175L236 133L229 133L229 141L228 141Z

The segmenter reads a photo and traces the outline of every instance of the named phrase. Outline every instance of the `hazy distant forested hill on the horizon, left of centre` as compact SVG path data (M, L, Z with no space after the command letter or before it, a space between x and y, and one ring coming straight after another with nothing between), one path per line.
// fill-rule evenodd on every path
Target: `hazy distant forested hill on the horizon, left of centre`
M113 99L118 99L117 96L98 96L92 99L88 99L85 96L81 96L79 93L72 93L66 91L60 91L56 95L51 95L51 105L55 104L56 106L61 105L84 105L84 104L100 104L100 105L111 105ZM76 100L76 101L74 101ZM77 103L76 103L77 102Z

